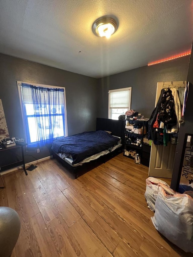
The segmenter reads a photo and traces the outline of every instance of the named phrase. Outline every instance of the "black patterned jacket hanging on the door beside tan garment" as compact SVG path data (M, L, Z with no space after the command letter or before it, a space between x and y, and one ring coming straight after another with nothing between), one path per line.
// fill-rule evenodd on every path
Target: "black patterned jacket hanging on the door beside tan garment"
M169 88L162 89L157 105L148 122L148 139L152 139L155 145L163 145L164 126L169 129L176 125L176 122L172 91Z

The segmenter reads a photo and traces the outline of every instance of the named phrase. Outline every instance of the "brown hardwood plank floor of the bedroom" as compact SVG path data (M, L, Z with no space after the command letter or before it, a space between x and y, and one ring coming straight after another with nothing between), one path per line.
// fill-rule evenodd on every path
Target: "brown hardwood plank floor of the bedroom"
M0 205L21 218L11 257L192 256L154 228L147 167L119 154L75 180L53 159L37 166L2 176Z

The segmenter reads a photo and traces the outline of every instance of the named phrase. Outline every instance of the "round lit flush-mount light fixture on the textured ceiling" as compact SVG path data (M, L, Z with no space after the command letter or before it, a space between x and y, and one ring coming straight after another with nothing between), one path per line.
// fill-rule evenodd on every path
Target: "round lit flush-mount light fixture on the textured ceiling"
M98 18L93 23L93 33L96 36L109 38L118 28L118 22L115 19L108 16Z

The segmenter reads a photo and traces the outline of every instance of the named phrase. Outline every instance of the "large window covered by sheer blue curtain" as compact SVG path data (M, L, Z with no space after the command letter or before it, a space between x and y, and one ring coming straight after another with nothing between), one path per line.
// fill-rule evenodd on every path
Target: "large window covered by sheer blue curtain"
M17 82L28 146L67 136L65 88Z

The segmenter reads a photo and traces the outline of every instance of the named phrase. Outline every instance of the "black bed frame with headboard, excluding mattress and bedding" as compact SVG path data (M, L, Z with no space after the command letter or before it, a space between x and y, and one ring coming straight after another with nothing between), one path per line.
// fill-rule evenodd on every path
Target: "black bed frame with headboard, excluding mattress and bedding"
M124 128L125 128L125 121L111 120L111 119L105 119L105 118L96 119L96 130L111 131L113 136L121 137L122 143L124 142ZM56 158L60 163L62 163L63 166L67 168L67 170L70 173L74 174L75 178L78 178L82 174L90 171L93 168L96 168L102 163L105 163L106 161L113 158L115 155L119 154L120 152L122 152L122 147L119 147L115 149L115 151L113 152L109 152L108 154L103 155L96 160L86 162L83 165L80 165L78 167L72 167L66 161L60 158L57 154L55 154L55 152L52 152L52 154L53 154L53 158Z

